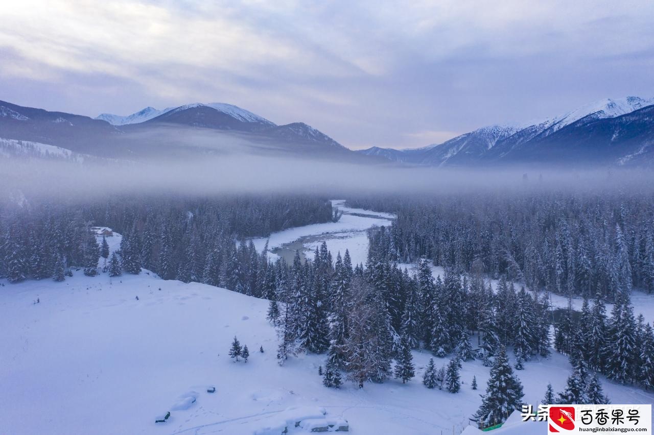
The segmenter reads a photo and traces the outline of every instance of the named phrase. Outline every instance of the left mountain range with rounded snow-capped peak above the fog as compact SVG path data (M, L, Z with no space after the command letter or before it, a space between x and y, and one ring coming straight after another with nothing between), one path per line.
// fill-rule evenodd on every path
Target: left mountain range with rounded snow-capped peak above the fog
M226 103L192 103L95 119L0 101L0 138L38 142L99 157L139 159L263 153L383 163L302 122L277 125Z

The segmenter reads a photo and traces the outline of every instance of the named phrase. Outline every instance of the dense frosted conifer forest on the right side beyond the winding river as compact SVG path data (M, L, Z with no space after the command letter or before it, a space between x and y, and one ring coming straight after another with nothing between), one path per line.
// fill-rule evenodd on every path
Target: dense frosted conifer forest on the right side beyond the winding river
M389 261L425 256L561 295L599 291L613 300L632 287L654 290L651 193L485 191L351 203L397 214L371 247Z

